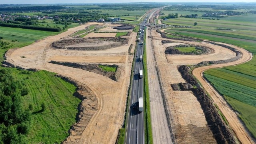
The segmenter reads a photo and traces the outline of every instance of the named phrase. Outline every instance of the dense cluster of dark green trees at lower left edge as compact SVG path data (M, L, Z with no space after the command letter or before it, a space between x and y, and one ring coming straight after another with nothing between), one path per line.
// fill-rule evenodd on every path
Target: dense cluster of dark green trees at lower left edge
M31 114L22 107L21 97L28 94L24 82L8 69L0 68L0 144L26 144Z

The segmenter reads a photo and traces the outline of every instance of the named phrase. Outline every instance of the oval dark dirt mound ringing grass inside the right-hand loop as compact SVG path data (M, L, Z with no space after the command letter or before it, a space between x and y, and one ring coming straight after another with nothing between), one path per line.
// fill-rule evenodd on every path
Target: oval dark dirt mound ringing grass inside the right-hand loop
M177 48L185 48L185 47L195 47L196 50L192 52L182 52L178 50ZM212 49L207 48L205 46L195 46L195 45L190 45L190 44L179 44L176 46L169 46L165 50L165 54L188 54L188 55L194 55L194 54L209 54L213 52Z

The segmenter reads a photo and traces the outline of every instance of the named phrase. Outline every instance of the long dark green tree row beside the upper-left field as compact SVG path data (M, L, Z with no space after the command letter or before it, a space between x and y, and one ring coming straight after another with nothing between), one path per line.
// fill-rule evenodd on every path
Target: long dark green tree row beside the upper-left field
M60 32L61 31L61 28L30 26L30 25L12 24L12 23L6 23L6 22L0 22L0 26L12 27L12 28L25 28L25 29L31 29L31 30L44 30L44 31L51 31L51 32Z

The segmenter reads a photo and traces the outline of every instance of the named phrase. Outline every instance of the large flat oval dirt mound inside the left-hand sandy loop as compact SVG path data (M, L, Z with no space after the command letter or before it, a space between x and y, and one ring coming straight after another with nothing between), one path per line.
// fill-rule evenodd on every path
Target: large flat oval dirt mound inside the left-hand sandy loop
M67 50L106 50L127 43L125 38L70 38L53 42L50 47Z

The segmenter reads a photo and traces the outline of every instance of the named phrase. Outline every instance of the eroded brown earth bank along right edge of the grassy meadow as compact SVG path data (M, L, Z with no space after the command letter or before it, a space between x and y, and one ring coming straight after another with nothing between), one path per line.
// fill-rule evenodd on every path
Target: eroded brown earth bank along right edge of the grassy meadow
M73 95L82 100L77 108L78 113L76 114L76 123L73 124L68 131L70 136L68 136L68 138L62 142L63 144L76 144L80 140L82 132L86 128L91 117L97 110L97 99L92 90L90 90L90 88L84 84L59 74L56 76L71 84L74 84L77 89Z

